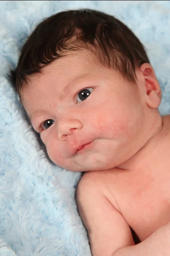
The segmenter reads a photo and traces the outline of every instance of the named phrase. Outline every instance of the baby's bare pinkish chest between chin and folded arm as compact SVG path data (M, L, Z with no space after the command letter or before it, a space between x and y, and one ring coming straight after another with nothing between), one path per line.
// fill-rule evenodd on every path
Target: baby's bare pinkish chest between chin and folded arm
M170 172L127 175L116 187L119 209L141 241L170 221Z

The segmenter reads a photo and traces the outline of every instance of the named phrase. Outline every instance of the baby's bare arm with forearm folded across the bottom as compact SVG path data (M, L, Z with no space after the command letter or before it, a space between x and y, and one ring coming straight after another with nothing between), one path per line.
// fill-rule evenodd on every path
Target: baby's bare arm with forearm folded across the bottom
M93 172L85 174L77 188L79 213L88 230L92 255L169 256L170 229L162 227L135 245L129 225L105 197L96 177Z

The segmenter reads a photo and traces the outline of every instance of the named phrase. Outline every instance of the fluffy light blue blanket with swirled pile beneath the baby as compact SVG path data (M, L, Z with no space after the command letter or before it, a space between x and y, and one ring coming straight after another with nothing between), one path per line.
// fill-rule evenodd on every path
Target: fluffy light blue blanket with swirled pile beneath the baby
M73 8L115 15L144 43L170 113L170 1L0 1L0 255L91 256L77 212L80 173L50 162L8 73L44 17Z

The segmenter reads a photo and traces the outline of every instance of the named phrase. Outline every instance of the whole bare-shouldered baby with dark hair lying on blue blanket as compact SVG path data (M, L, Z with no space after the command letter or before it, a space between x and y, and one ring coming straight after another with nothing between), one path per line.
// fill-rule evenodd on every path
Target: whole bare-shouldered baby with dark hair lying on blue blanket
M85 172L77 202L92 255L170 255L170 116L133 32L102 12L57 13L12 74L50 159Z

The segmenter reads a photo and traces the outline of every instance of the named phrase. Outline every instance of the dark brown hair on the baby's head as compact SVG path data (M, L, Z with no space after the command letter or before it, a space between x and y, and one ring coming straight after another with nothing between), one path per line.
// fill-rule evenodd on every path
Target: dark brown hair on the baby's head
M11 72L16 91L21 93L29 76L41 73L67 51L79 49L94 52L103 65L130 82L136 80L136 68L149 63L142 43L115 17L90 9L59 12L43 20L23 45L17 68Z

